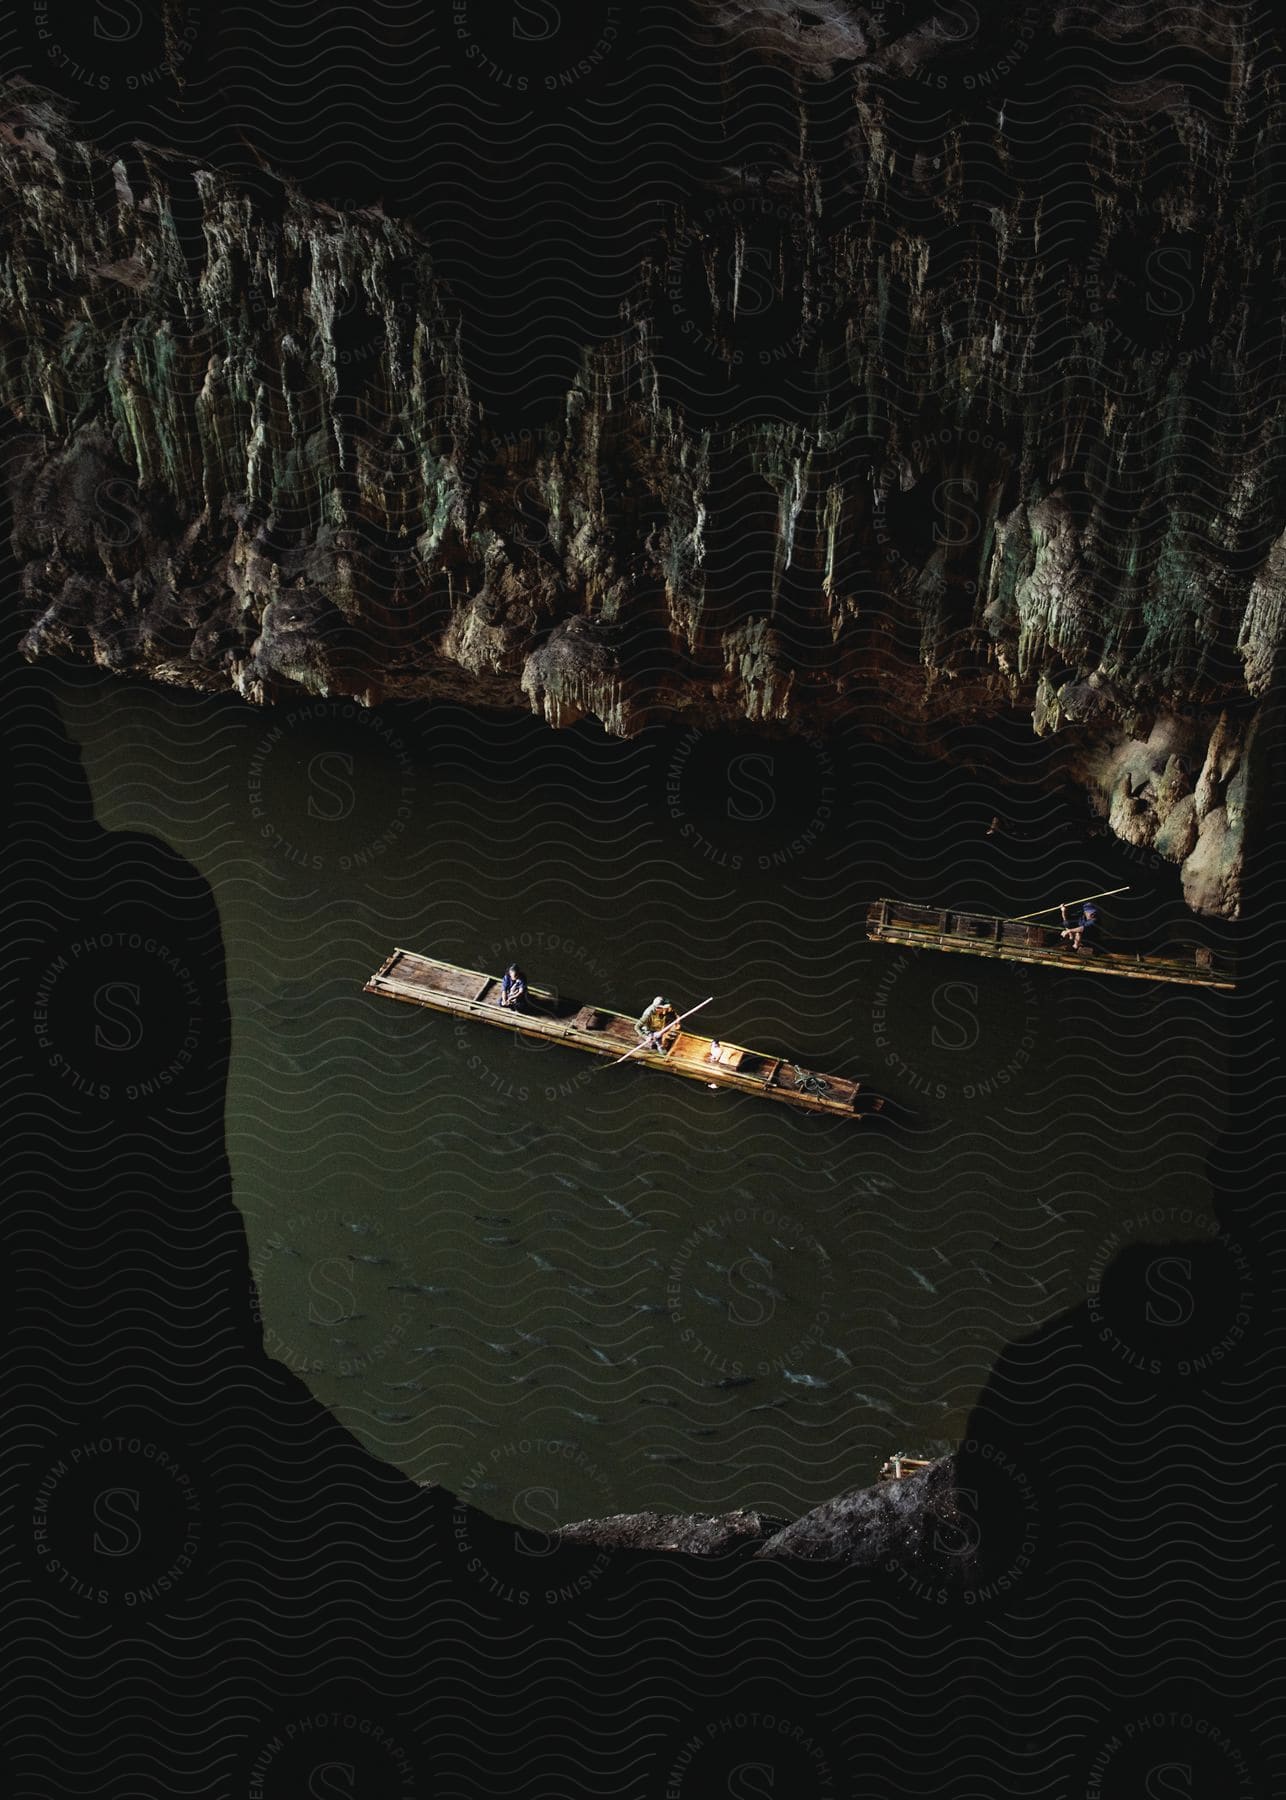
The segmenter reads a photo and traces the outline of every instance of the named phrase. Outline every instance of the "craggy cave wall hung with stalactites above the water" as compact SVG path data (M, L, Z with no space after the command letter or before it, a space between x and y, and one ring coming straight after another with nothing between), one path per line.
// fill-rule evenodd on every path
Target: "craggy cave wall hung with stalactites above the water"
M99 153L13 86L27 653L618 734L1028 715L1236 913L1286 621L1270 47L1243 13L965 13L704 9L794 142L661 209L522 428L430 229Z

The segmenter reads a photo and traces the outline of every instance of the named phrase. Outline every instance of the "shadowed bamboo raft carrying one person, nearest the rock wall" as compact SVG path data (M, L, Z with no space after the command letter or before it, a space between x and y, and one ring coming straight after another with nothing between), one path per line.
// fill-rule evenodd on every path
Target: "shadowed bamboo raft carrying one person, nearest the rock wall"
M1218 968L1210 950L1192 956L1138 956L1129 950L1073 950L1059 938L1061 925L1032 925L994 918L989 913L949 913L901 900L874 900L866 911L866 936L877 943L906 943L915 950L958 950L964 956L994 956L1007 963L1045 963L1052 968L1082 968L1093 976L1124 976L1128 981L1180 981L1200 988L1232 988L1228 972Z

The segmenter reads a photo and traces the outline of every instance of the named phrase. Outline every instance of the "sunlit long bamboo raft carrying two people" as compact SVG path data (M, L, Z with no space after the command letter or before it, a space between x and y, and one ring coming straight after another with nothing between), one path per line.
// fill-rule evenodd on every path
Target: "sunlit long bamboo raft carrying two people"
M366 983L364 992L497 1024L522 1037L542 1037L566 1044L567 1049L587 1049L594 1057L621 1058L639 1044L634 1021L627 1013L566 1001L548 988L535 986L528 986L526 1010L510 1012L499 1004L499 976L486 976L481 968L459 968L456 963L420 956L416 950L394 950ZM883 1100L866 1096L861 1082L850 1082L841 1075L814 1075L787 1057L771 1057L740 1044L720 1044L719 1058L711 1060L713 1044L715 1039L681 1028L668 1053L639 1049L630 1060L666 1075L681 1075L690 1082L704 1082L708 1087L764 1094L767 1100L780 1100L809 1112L863 1118L884 1105Z

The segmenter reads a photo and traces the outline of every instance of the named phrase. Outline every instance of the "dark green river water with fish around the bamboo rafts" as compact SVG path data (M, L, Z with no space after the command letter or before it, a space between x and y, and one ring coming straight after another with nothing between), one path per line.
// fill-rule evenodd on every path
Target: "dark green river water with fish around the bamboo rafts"
M59 698L101 824L218 900L265 1341L420 1481L533 1526L792 1516L951 1447L1122 1231L1209 1231L1218 994L865 938L884 893L1025 913L1122 882L1118 941L1210 936L1034 783L95 673ZM713 994L711 1033L890 1107L794 1116L366 995L394 945L630 1010Z

